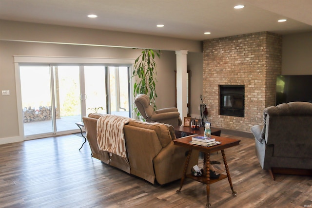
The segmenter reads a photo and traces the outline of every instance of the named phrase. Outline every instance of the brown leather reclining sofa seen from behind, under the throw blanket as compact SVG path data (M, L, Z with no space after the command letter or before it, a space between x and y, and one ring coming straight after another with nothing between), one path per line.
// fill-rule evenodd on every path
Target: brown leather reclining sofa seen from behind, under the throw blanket
M131 120L123 128L127 158L101 151L97 141L97 121L102 114L90 113L83 117L86 137L92 157L154 184L162 185L182 176L187 149L174 145L176 139L172 126ZM189 170L198 162L198 151L192 151Z

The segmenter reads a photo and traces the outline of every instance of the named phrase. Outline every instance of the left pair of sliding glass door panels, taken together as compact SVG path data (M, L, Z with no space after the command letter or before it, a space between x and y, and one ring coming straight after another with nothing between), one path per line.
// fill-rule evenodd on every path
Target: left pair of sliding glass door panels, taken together
M78 66L21 66L20 84L26 137L77 130Z

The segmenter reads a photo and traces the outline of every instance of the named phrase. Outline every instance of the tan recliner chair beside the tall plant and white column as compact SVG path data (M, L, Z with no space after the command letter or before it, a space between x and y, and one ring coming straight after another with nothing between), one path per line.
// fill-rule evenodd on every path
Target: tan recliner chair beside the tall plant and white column
M135 99L138 112L147 122L159 122L172 126L181 126L182 120L177 108L163 108L154 111L150 98L145 94L137 95Z

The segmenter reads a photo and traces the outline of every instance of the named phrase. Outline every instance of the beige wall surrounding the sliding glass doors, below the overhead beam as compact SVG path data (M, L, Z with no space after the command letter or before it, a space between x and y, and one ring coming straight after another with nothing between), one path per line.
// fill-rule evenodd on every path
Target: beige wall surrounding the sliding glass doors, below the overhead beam
M136 58L140 49L111 48L79 45L63 45L49 43L30 43L0 41L0 79L1 90L10 90L10 96L0 96L0 138L19 135L17 97L15 87L14 55L27 56L60 56L60 57L115 57ZM162 51L157 61L156 92L158 108L175 105L175 62L174 51Z

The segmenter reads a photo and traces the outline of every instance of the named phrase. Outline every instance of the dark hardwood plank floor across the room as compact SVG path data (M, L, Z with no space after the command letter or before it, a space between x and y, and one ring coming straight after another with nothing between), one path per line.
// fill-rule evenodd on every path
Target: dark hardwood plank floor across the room
M212 208L312 207L312 177L276 175L273 181L257 161L251 134L222 130L221 135L241 140L225 150L237 196L228 180L214 183ZM87 143L78 151L83 141L65 135L0 145L0 207L205 207L205 185L186 179L176 194L179 181L152 185L92 158ZM211 158L222 161L220 152Z

